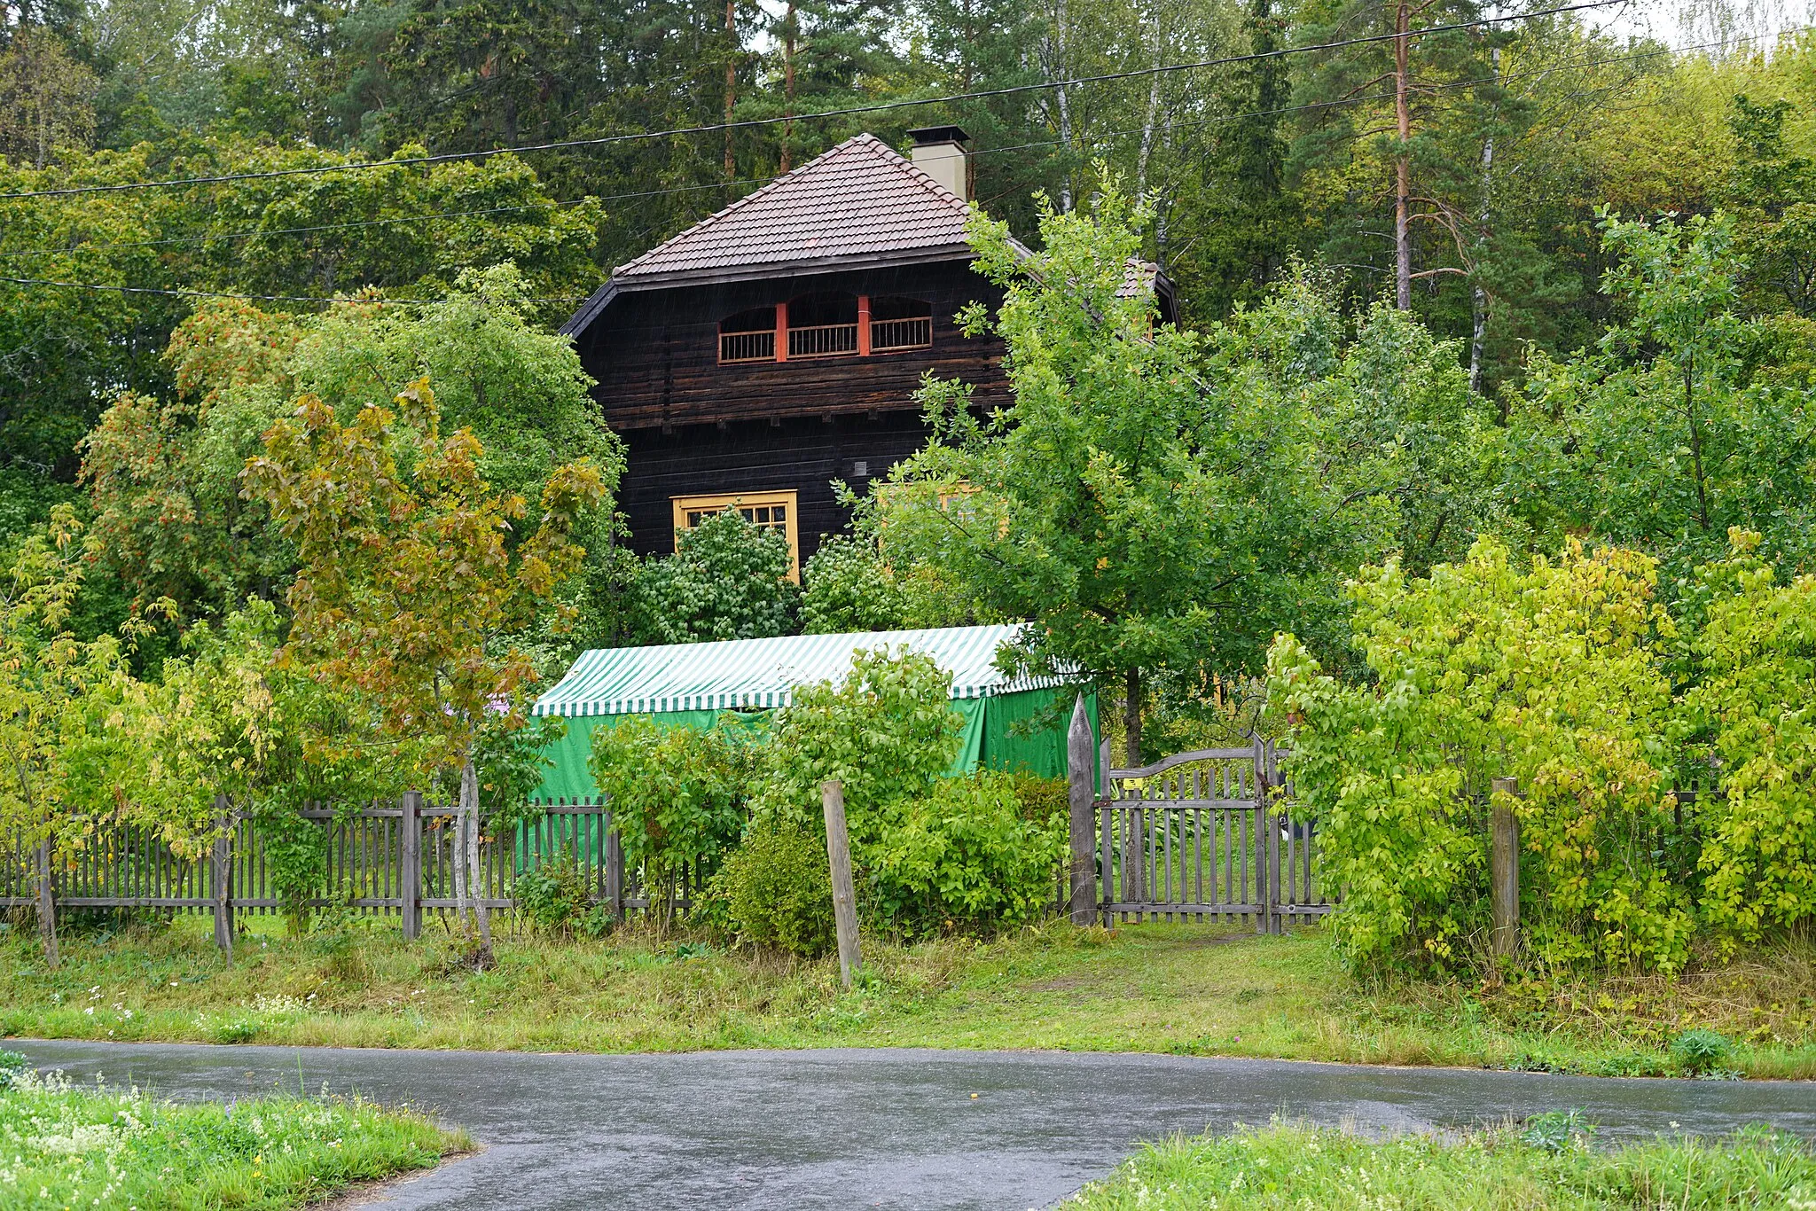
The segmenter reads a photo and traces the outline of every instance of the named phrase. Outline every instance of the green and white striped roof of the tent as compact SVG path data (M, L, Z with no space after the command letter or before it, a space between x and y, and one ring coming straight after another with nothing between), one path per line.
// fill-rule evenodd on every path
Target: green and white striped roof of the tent
M799 684L843 681L852 652L908 646L952 672L952 697L993 697L1064 684L1061 677L1004 677L997 648L1021 630L946 626L850 635L781 635L585 652L530 714L579 719L674 710L786 706Z

